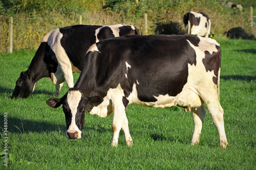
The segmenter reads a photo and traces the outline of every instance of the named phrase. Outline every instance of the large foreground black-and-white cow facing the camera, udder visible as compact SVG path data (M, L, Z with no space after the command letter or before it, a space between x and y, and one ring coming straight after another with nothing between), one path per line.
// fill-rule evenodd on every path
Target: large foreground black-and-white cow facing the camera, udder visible
M48 106L62 104L66 137L83 136L84 115L100 117L113 112L111 145L118 145L122 129L127 145L133 145L126 107L180 106L192 111L194 133L199 142L206 110L219 132L219 146L228 146L220 105L219 44L197 35L137 35L100 41L88 50L78 81L62 98L50 98Z

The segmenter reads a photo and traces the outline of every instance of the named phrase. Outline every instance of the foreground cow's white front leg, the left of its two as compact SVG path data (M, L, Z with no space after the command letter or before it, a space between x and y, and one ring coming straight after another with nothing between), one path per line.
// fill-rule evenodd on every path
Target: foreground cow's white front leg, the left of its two
M121 128L123 127L123 121L125 119L124 116L125 116L124 106L123 105L121 105L121 106L114 105L114 103L113 103L113 120L112 120L113 138L112 138L112 142L111 142L112 146L116 146L116 147L118 146L119 132L120 132Z

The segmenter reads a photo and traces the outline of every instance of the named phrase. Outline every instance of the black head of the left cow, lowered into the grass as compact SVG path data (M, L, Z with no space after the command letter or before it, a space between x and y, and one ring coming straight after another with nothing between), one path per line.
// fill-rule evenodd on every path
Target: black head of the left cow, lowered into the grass
M20 73L16 86L13 91L13 98L27 98L35 89L37 81L32 77L31 71L23 71Z

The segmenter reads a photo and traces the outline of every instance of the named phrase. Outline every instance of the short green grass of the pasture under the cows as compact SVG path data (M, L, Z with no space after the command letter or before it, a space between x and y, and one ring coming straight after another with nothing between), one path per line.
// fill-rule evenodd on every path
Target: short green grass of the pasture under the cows
M55 85L41 79L27 99L10 96L21 71L35 51L0 55L0 153L8 115L8 166L3 169L255 169L256 168L256 42L216 39L222 48L220 100L229 147L219 148L218 132L207 112L199 145L190 146L194 124L191 112L179 107L147 108L129 105L126 114L134 141L127 147L123 132L119 146L110 147L112 115L85 115L84 136L65 138L61 108L47 106ZM77 80L79 74L74 74ZM61 89L62 97L68 88Z

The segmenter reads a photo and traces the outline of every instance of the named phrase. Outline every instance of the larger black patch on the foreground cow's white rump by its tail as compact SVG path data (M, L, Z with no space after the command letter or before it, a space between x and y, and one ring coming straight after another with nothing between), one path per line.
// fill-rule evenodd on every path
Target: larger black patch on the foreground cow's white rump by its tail
M205 58L202 59L202 62L206 71L214 71L214 75L218 77L220 67L220 47L216 45L216 48L218 51L212 52L212 54L210 54L209 51L205 51Z

